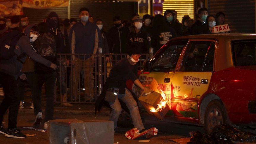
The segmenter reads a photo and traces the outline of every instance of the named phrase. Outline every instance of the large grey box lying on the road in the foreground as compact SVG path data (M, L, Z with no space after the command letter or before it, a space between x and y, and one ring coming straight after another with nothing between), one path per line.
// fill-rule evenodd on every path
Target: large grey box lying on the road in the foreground
M49 144L113 144L113 121L56 119L48 121Z

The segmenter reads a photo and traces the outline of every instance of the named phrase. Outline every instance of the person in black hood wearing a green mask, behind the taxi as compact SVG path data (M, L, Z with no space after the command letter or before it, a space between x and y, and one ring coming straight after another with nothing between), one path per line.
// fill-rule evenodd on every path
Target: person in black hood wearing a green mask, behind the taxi
M174 12L174 10L166 10L164 13L164 17L167 25L175 30L177 36L182 36L184 31L181 27L182 26L181 23L176 21L175 15L176 13Z

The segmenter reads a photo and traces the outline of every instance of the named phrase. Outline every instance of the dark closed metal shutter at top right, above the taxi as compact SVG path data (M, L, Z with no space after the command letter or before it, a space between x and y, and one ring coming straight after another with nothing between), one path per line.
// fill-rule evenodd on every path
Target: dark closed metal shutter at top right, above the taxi
M255 0L208 0L208 11L224 12L231 33L255 33Z

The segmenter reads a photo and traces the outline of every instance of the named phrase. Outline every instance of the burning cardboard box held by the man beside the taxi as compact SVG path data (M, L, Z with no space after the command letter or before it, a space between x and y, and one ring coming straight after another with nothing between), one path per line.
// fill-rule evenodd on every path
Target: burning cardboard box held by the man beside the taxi
M154 115L155 117L162 120L164 116L167 114L167 112L170 110L170 107L168 106L168 104L166 104L165 108L157 112L150 111L150 110L156 110L158 107L157 105L161 100L162 100L161 94L149 88L145 88L145 90L139 97L139 102L143 105L146 111L149 114Z

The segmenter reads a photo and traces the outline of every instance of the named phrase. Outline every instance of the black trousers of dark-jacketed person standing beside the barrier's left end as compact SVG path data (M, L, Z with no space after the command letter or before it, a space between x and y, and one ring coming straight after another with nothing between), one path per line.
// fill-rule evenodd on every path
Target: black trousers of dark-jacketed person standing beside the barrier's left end
M54 88L56 84L56 72L52 73L34 73L34 114L42 111L41 93L42 86L45 83L45 117L43 122L47 122L53 119L53 108L54 108Z

